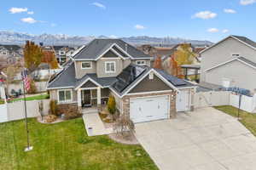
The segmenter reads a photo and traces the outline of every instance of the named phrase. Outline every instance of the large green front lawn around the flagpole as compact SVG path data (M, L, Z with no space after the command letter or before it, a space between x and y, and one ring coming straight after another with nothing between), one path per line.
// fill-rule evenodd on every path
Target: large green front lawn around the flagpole
M4 170L140 170L157 169L140 145L88 137L82 118L57 124L29 119L33 150L24 152L24 121L0 123L0 169Z

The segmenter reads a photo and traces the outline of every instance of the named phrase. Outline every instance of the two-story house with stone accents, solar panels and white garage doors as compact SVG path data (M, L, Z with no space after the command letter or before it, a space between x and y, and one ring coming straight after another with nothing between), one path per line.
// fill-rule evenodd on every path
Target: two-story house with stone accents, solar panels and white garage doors
M63 71L48 82L50 99L60 107L77 105L86 111L106 105L113 95L119 113L133 122L190 111L194 85L151 68L150 59L120 39L95 39L79 48Z

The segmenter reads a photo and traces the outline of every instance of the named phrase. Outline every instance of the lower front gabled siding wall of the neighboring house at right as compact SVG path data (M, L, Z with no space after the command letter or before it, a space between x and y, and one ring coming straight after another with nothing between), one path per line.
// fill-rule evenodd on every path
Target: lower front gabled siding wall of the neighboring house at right
M206 82L222 85L223 79L228 78L231 80L230 86L246 88L252 92L256 88L255 77L255 69L237 60L205 73Z

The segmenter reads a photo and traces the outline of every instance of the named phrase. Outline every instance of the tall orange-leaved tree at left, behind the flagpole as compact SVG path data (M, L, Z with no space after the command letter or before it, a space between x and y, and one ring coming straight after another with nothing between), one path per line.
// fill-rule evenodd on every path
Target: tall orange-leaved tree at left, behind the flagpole
M24 48L25 67L31 74L38 69L38 65L42 63L43 51L34 42L26 41Z

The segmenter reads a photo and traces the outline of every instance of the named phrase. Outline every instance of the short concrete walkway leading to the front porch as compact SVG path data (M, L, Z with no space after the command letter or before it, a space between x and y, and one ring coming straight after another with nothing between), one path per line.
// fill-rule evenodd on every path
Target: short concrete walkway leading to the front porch
M84 127L88 136L97 136L97 135L113 133L112 128L104 127L102 119L97 112L84 114L83 120L84 120Z

